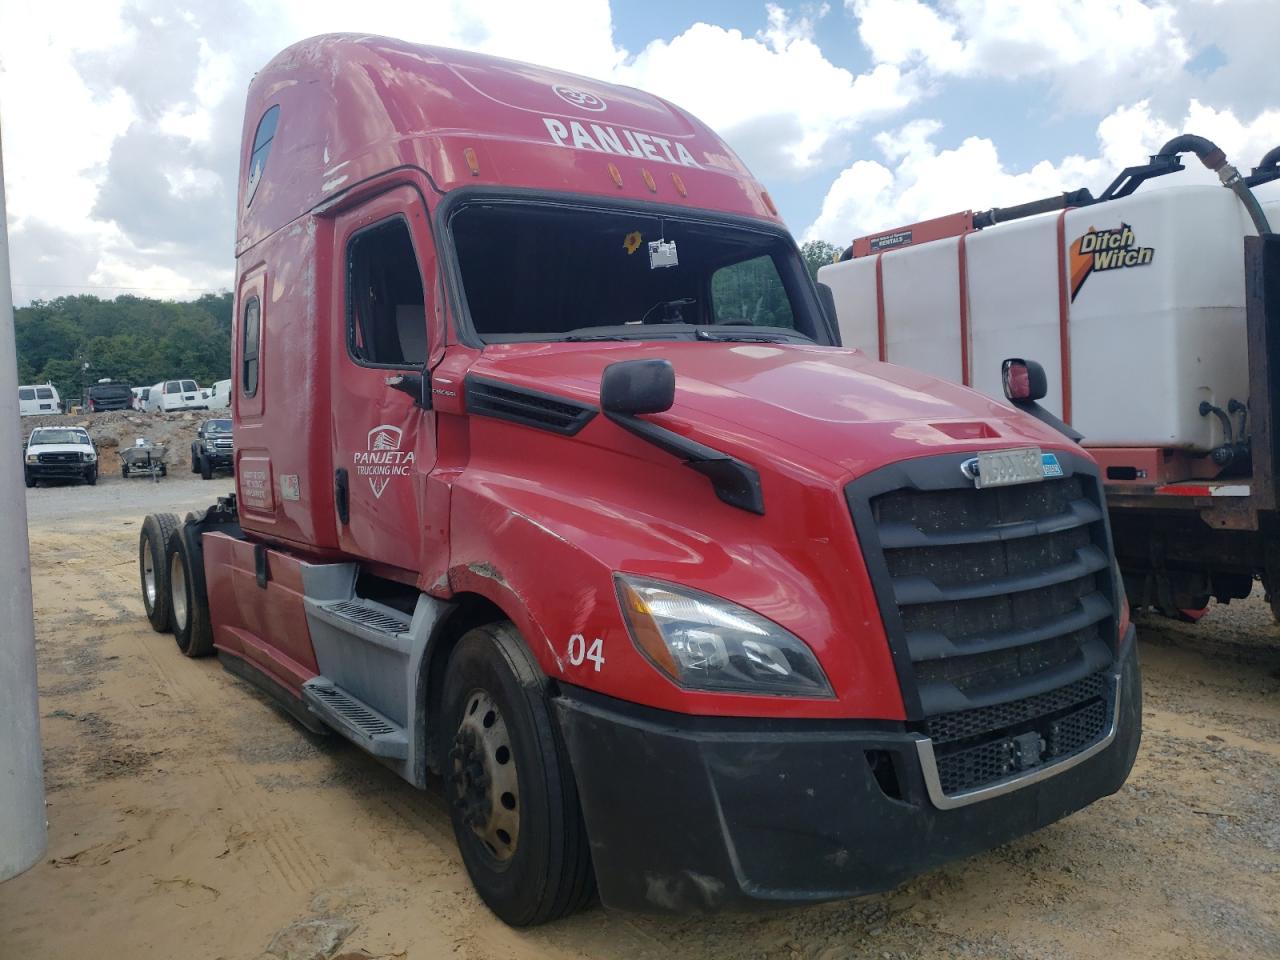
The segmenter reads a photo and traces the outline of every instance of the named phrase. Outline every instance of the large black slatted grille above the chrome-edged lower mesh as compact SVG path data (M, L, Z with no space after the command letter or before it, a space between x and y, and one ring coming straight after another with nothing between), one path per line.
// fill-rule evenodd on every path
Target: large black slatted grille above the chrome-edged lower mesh
M849 497L920 714L1023 699L1110 664L1114 588L1097 479L979 490L956 457L913 463L861 503L861 481Z

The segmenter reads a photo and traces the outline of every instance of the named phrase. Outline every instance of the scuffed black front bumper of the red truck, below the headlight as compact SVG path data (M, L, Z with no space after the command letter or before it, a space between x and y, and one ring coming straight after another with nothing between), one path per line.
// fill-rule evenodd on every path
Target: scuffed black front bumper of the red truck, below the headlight
M556 709L600 899L636 911L838 900L1053 823L1114 794L1133 768L1142 685L1132 627L1123 649L1105 746L951 809L931 800L922 735L901 723L716 721L566 687Z

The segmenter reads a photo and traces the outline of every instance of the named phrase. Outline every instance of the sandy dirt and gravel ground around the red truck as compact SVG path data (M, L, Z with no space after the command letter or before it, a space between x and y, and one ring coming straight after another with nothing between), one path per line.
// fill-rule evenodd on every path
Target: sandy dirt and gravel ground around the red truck
M143 512L225 489L28 492L50 844L0 886L0 957L1280 957L1280 634L1260 596L1139 623L1133 777L1034 836L851 902L596 905L515 932L471 891L438 790L147 626Z

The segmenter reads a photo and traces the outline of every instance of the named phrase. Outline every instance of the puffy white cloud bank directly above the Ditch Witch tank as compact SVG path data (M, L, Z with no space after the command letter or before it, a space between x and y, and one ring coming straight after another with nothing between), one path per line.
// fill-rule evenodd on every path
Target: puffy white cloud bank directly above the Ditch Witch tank
M1121 169L1144 163L1184 131L1208 137L1247 172L1280 143L1280 110L1243 120L1229 109L1193 100L1183 120L1170 124L1153 115L1149 102L1140 101L1117 108L1098 124L1094 156L1042 160L1023 172L1007 169L991 140L968 137L955 147L940 148L942 124L913 120L876 137L886 163L861 160L836 178L804 238L845 246L876 230L961 210L1010 206L1080 187L1097 195ZM1183 173L1152 180L1142 189L1217 182L1194 157L1184 157L1184 163Z

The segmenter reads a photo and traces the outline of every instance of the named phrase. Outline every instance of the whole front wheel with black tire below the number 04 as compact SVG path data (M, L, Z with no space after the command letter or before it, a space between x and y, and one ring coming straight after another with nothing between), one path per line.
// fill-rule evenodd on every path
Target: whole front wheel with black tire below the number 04
M541 671L512 623L458 641L440 723L445 801L480 899L512 927L581 908L595 878L577 787Z

